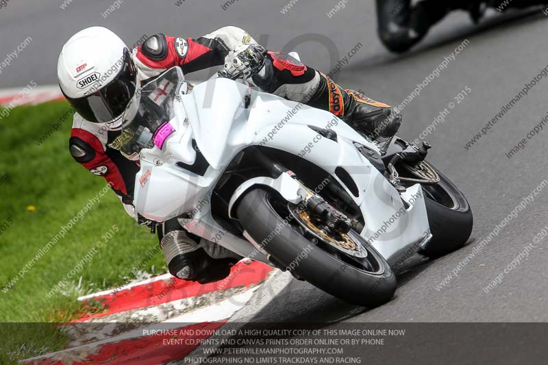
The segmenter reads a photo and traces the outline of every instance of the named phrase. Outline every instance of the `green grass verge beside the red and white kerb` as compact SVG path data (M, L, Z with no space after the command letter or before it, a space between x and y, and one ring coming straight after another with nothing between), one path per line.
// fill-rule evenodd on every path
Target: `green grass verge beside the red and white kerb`
M8 363L8 357L3 357L6 353L21 353L21 341L28 351L18 357L61 349L65 339L53 324L71 320L82 310L77 297L127 284L134 279L132 268L157 244L149 229L127 216L114 192L108 191L64 238L19 275L106 185L102 177L89 173L69 154L69 110L68 103L47 103L15 108L0 119L0 323L51 323L51 333L44 334L43 325L34 331L31 325L13 324L11 329L20 327L23 333L10 336L10 341L6 340L10 331L0 328L0 353L4 354L0 364ZM63 115L67 117L59 130L38 145ZM90 249L97 247L97 241L103 240L113 225L118 231L86 262L84 257L90 258ZM75 275L67 279L71 290L48 298L47 293L75 268L77 273L73 271ZM165 273L161 252L142 270ZM15 277L18 281L6 290Z

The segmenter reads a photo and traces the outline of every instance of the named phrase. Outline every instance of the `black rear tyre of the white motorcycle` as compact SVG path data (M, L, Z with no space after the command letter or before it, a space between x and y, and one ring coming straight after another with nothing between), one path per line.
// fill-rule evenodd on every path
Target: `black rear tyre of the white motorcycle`
M432 165L431 165L432 166ZM451 209L429 199L425 195L426 211L432 233L432 240L419 253L436 258L460 249L470 238L473 228L473 215L464 194L458 190L443 173L432 166L440 176L438 185L458 201L458 207Z

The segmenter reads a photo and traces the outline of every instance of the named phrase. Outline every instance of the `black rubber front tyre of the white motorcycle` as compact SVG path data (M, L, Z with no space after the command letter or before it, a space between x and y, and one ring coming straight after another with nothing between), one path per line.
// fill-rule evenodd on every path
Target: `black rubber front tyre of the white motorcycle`
M393 270L384 257L363 238L356 234L362 244L373 250L382 273L375 275L353 268L316 247L297 230L284 223L269 203L268 197L269 191L254 188L245 194L236 212L238 220L253 240L263 242L271 238L264 244L264 251L272 255L275 262L282 267L288 267L303 252L310 250L306 257L297 262L292 272L316 288L365 307L377 307L392 299L396 290Z

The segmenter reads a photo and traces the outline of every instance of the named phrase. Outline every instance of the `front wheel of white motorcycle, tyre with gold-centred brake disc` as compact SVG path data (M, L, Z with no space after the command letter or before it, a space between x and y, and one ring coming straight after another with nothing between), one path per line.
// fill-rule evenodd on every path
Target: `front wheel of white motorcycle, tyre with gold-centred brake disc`
M245 194L236 210L249 236L272 261L329 294L376 307L396 290L393 270L355 231L336 234L314 221L306 208L288 204L264 188Z

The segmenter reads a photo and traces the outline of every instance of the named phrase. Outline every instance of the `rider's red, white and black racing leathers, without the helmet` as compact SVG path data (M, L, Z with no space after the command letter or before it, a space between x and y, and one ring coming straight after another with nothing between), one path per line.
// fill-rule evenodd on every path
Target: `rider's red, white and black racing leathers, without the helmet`
M400 114L389 105L345 90L295 58L266 52L238 27L223 27L197 39L156 34L134 49L132 58L142 83L173 66L180 66L188 74L225 65L225 72L247 73L245 76L265 92L329 110L373 137L393 135L401 123ZM132 206L138 162L110 147L120 134L119 126L90 123L75 114L69 147L73 158L91 173L104 177L125 210L138 219ZM179 279L200 283L223 279L241 258L188 234L175 218L159 227L158 237L169 271Z

